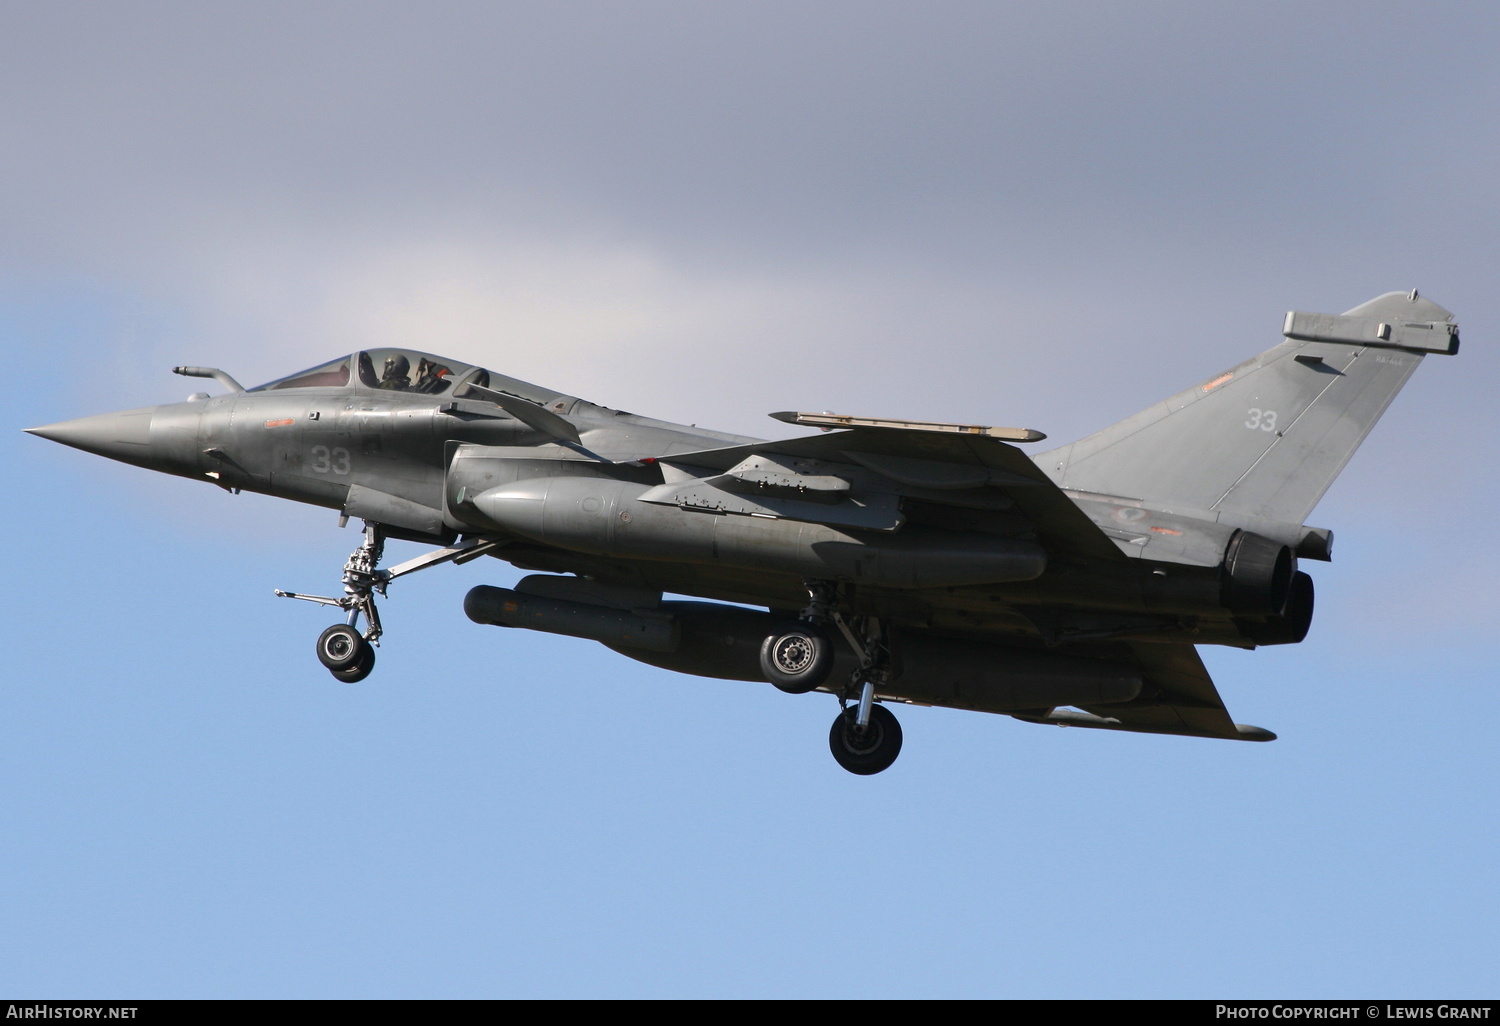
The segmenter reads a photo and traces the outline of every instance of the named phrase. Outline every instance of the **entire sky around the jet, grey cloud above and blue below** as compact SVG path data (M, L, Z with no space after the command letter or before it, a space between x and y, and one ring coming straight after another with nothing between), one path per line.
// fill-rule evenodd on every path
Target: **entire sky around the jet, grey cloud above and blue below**
M1500 15L1444 3L0 3L0 990L1492 996ZM636 412L1068 441L1420 288L1270 746L698 681L393 588L324 510L24 436L402 344ZM393 546L404 555L399 546Z

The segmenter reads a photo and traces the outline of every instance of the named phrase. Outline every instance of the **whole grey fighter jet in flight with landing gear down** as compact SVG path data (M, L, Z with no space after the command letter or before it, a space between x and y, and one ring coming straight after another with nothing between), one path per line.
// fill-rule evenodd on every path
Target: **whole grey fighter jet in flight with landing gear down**
M726 435L388 348L258 388L176 368L228 393L30 432L362 519L342 596L276 592L342 610L316 646L340 681L374 668L393 580L496 556L537 573L470 591L476 622L830 693L834 758L873 774L902 747L896 702L1275 738L1230 720L1196 645L1304 639L1298 560L1334 540L1304 520L1422 357L1458 351L1416 291L1287 314L1282 336L1035 458L1035 430L834 414ZM386 538L436 548L387 570Z

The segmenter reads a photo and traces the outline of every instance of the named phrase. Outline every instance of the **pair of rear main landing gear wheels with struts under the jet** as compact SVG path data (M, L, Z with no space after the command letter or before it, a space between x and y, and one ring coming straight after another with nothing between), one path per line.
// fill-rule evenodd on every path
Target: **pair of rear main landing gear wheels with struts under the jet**
M822 687L834 668L834 642L826 624L836 626L860 654L860 668L849 684L836 692L838 717L828 732L828 748L849 772L880 772L902 753L902 724L890 710L874 704L876 687L885 684L891 674L891 651L880 621L878 616L856 616L850 627L834 610L837 586L831 582L808 580L807 594L807 609L772 630L760 644L760 672L789 694ZM855 628L860 628L858 633ZM850 700L855 705L850 706Z

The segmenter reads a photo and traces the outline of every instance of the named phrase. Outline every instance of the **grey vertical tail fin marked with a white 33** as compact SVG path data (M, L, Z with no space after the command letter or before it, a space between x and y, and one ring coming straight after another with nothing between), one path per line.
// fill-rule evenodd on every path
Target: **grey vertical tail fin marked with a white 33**
M1302 524L1426 352L1458 352L1442 306L1388 292L1287 314L1286 340L1036 458L1064 488Z

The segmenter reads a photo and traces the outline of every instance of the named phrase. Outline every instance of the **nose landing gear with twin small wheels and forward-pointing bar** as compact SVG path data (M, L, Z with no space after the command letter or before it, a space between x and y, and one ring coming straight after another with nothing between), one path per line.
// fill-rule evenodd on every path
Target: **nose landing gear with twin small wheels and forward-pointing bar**
M380 646L380 636L384 633L380 626L380 610L375 608L375 594L386 597L386 585L396 578L404 578L417 570L426 570L442 562L468 562L496 548L500 542L484 538L464 538L454 546L438 549L416 560L408 560L390 570L381 570L380 561L386 555L386 531L380 524L364 520L364 540L350 554L344 564L344 597L328 598L326 596L304 596L296 591L276 590L282 598L302 598L320 606L338 606L346 616L342 624L334 624L318 634L318 662L322 663L334 680L345 684L363 681L375 669L375 650ZM360 632L358 621L364 618L364 630Z

